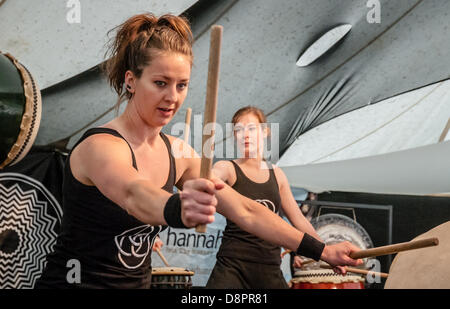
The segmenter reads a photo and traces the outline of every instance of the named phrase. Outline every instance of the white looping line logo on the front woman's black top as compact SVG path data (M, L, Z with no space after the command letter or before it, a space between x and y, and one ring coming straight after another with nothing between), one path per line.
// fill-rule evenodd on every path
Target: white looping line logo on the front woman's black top
M161 225L147 224L126 230L114 237L114 242L119 250L117 257L122 265L128 269L142 266L151 253L156 236L161 231Z

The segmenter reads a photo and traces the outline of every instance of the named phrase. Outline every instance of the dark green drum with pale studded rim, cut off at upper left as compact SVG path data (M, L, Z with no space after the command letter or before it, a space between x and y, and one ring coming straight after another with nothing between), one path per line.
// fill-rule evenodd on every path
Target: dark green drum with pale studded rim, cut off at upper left
M41 120L41 94L31 74L0 52L0 169L30 150Z

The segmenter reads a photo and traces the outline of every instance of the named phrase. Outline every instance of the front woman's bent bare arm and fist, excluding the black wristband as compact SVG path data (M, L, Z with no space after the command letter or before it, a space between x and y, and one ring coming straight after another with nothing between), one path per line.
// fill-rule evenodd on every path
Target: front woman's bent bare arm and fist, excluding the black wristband
M131 162L128 145L108 134L88 137L70 157L72 173L79 181L96 186L138 220L150 225L166 225L164 208L172 194L144 179ZM206 179L186 183L187 192L182 200L182 221L186 226L212 222L217 203L215 189Z

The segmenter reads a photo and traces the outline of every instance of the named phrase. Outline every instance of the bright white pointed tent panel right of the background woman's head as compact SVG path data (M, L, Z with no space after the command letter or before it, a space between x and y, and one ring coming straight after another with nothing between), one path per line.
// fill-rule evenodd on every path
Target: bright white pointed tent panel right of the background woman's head
M450 80L327 121L302 134L278 164L348 160L434 144L450 123Z

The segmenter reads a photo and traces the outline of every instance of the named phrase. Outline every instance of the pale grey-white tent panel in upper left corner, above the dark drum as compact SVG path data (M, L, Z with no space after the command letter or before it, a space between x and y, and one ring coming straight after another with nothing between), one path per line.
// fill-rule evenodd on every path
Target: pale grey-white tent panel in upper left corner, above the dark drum
M66 17L76 2L80 23L69 23ZM101 63L106 32L129 16L180 14L195 2L9 0L0 7L0 50L27 66L45 89Z

